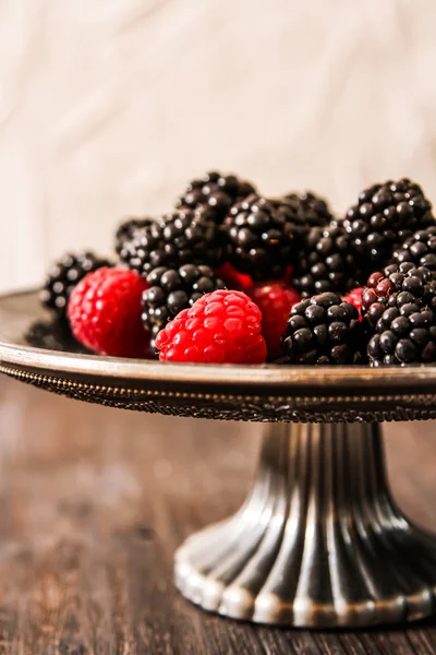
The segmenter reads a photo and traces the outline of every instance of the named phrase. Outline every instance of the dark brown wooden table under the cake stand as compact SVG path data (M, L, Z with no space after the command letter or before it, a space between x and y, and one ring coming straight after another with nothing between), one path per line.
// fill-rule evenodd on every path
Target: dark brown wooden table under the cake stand
M0 379L0 655L436 653L405 630L242 624L172 586L174 549L243 500L257 425L86 405ZM436 525L434 424L387 429L401 507Z

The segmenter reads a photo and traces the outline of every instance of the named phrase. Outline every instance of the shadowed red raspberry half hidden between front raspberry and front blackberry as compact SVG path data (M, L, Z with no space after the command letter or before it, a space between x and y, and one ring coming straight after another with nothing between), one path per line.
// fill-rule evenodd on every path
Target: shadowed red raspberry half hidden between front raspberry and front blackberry
M269 359L280 357L280 338L288 323L291 308L300 302L300 294L282 281L256 284L250 297L262 312L262 334Z

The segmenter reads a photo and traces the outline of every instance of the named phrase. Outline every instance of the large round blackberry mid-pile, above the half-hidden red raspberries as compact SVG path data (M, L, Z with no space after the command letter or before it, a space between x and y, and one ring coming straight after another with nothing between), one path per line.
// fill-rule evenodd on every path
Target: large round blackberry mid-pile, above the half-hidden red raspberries
M306 231L290 203L259 195L233 205L222 227L230 263L255 281L282 277Z

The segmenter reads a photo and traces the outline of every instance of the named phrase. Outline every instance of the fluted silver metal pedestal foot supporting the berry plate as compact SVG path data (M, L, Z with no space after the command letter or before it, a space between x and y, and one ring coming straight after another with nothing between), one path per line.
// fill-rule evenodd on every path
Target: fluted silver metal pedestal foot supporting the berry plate
M181 546L175 584L258 623L411 621L435 610L436 538L392 501L378 424L270 424L250 497Z

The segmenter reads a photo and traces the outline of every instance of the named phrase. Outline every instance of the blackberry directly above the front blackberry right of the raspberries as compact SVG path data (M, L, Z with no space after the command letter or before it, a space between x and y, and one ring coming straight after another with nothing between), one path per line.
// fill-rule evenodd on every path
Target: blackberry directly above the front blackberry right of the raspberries
M347 294L364 279L342 223L334 222L326 228L313 227L308 231L293 277L303 298L325 291Z

